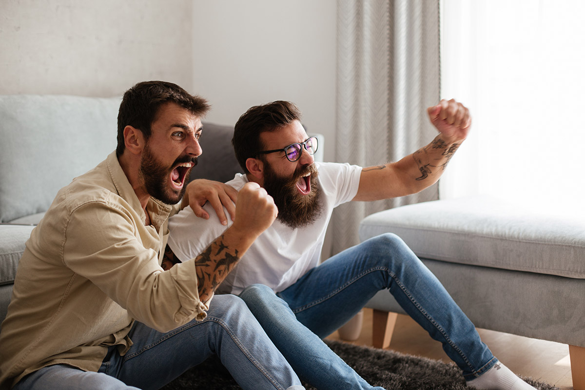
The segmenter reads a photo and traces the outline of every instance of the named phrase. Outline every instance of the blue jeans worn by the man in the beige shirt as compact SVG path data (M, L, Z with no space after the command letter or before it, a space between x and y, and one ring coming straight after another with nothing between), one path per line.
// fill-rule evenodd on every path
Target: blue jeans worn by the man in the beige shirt
M245 303L218 295L207 318L160 333L136 322L132 347L120 356L110 347L99 372L51 365L16 384L16 390L159 389L189 368L217 354L243 389L304 389L282 354L264 333Z

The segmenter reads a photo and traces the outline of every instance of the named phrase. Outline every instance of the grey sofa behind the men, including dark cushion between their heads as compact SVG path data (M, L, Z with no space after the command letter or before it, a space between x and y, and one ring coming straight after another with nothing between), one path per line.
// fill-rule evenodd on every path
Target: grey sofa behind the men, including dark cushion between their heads
M25 241L57 191L116 149L120 98L0 95L0 322ZM233 127L204 122L192 177L227 181L240 166Z

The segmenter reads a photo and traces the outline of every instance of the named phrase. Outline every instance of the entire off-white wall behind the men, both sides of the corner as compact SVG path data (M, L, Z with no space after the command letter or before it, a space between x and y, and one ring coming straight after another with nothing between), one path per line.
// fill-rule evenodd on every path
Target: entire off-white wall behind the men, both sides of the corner
M297 103L333 161L335 0L0 0L0 94L119 96L176 82L233 125Z

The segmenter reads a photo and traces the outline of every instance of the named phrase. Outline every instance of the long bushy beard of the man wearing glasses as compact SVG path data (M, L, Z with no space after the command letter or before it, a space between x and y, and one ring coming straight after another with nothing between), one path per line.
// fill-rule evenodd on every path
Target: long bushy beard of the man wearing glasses
M307 195L298 192L297 181L311 173L311 191ZM291 229L315 222L322 211L319 172L315 165L308 165L295 172L292 178L278 177L270 164L264 164L264 189L274 199L278 208L278 220Z

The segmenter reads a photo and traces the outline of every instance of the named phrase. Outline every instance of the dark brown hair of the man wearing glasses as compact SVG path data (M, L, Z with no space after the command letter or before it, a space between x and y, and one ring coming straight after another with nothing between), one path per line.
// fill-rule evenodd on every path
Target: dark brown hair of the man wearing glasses
M281 100L253 106L240 116L233 132L232 145L244 172L249 173L246 160L255 157L264 148L260 143L260 133L280 129L294 120L301 120L301 111L294 103Z

